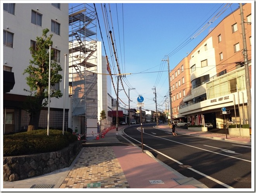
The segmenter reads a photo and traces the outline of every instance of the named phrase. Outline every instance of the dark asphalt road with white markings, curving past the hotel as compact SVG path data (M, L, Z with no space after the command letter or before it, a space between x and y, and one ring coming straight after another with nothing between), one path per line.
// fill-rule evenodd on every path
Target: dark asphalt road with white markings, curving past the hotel
M139 127L139 129L137 129ZM154 129L150 124L123 130L130 141L209 188L251 188L251 146Z

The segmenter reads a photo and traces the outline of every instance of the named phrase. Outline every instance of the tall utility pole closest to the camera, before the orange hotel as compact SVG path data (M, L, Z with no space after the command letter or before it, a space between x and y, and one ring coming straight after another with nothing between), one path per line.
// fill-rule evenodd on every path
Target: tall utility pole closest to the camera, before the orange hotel
M248 64L248 55L247 55L247 45L246 45L246 32L244 27L244 12L243 5L240 4L240 15L241 15L241 25L242 25L242 38L243 38L243 54L244 54L244 70L246 76L246 93L247 93L247 110L248 110L248 122L249 122L249 133L251 141L251 84L250 84L250 73L249 73L249 64Z

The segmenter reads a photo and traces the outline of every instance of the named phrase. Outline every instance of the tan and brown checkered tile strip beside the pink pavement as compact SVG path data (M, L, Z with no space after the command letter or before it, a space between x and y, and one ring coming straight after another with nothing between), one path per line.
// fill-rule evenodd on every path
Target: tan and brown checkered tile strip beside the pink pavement
M59 188L130 188L112 147L83 147Z

